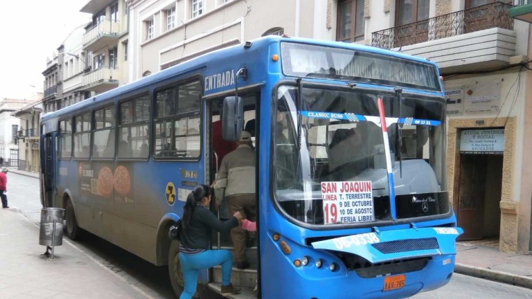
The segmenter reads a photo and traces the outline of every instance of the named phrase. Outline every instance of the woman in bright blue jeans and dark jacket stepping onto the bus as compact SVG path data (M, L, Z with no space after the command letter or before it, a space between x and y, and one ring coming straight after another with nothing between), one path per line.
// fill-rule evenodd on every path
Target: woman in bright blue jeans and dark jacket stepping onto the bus
M207 269L219 264L222 265L222 295L240 291L231 285L233 255L225 249L211 250L210 242L213 229L229 233L231 228L238 226L242 215L240 212L235 212L231 219L220 221L209 210L213 194L211 187L199 185L186 198L183 208L183 232L179 244L179 260L181 260L185 287L179 299L189 299L194 296L199 269Z

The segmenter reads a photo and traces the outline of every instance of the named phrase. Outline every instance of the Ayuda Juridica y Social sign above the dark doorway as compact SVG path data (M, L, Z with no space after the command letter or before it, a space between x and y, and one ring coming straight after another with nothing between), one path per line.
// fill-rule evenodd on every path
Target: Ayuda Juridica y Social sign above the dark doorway
M465 129L460 136L462 154L502 154L504 129Z

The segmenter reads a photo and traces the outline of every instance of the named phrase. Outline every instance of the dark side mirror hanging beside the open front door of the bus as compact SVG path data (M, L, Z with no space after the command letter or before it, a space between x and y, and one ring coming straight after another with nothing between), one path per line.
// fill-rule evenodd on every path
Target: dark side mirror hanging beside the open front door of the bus
M226 141L239 141L244 124L244 104L242 98L224 98L222 109L222 138Z

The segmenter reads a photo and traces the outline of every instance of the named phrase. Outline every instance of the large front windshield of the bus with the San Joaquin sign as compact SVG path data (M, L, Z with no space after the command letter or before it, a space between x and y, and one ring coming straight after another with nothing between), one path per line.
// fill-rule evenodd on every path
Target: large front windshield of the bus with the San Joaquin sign
M357 224L450 211L443 100L305 87L298 100L298 88L291 86L278 87L277 96L274 192L290 217L306 224Z

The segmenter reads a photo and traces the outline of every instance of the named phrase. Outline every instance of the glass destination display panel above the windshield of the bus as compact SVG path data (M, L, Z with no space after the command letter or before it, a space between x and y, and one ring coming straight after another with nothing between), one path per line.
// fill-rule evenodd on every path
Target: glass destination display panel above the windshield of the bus
M434 64L347 48L281 43L283 73L441 91Z

